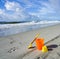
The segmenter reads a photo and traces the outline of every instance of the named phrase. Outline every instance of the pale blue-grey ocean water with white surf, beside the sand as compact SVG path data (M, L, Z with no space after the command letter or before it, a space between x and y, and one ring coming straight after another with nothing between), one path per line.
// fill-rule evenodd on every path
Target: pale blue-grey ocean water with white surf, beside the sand
M0 24L0 37L30 31L42 27L52 26L58 23L60 23L60 21L31 21L15 24Z

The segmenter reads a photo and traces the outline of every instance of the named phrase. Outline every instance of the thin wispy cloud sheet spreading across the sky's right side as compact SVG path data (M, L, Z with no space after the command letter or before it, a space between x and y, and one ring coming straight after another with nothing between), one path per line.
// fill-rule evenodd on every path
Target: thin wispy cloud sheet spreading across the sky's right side
M59 12L60 12L60 4L59 4L60 0L49 0L48 2L44 2L44 1L39 1L40 8L38 8L37 12L30 12L29 14L32 16L37 16L40 19L59 19Z

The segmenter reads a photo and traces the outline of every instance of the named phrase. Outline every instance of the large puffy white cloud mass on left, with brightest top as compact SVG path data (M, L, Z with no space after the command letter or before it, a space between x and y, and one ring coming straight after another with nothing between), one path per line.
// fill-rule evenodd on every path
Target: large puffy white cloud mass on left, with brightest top
M6 1L4 6L6 9L0 9L1 21L23 21L29 17L17 2Z

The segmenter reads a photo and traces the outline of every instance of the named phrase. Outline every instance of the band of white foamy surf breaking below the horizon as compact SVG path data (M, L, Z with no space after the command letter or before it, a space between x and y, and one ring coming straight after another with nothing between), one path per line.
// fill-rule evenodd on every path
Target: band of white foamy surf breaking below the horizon
M17 23L17 24L0 24L0 29L1 28L11 28L11 27L15 27L15 26L28 26L28 25L37 25L37 24L56 24L56 23L60 23L60 21L39 21L39 22L26 22L26 23Z

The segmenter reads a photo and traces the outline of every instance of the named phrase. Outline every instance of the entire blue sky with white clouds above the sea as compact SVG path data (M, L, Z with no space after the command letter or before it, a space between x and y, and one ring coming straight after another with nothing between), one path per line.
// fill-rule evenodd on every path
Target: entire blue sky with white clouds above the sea
M0 21L60 20L60 0L0 0Z

